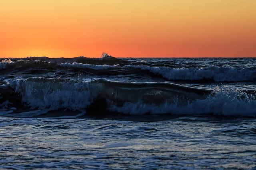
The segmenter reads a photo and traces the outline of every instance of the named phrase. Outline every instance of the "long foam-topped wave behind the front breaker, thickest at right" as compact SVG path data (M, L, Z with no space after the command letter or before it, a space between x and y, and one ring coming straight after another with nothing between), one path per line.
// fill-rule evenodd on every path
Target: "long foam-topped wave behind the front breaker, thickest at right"
M167 66L154 67L145 65L94 65L82 63L61 63L61 66L69 68L90 68L93 70L108 70L109 68L126 68L130 74L137 70L148 70L154 75L159 75L168 80L212 80L215 82L244 82L256 80L255 68L229 68L229 67L201 67L201 68L170 68ZM128 74L128 72L126 72ZM149 74L150 75L150 74Z

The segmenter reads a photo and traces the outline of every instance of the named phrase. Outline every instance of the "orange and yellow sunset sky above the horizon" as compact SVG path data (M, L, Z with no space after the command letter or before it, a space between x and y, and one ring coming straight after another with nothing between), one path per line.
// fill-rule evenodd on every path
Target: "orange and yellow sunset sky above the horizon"
M0 57L256 57L256 0L0 0Z

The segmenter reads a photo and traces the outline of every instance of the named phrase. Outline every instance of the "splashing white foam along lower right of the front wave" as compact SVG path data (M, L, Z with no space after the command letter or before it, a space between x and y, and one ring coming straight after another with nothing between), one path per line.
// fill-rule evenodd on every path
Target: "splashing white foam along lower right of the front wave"
M173 102L162 105L145 104L142 102L126 102L122 107L111 106L110 111L143 115L171 113L174 115L228 115L256 117L255 94L247 94L235 88L217 86L208 98L186 101L186 105L178 104L178 96Z

